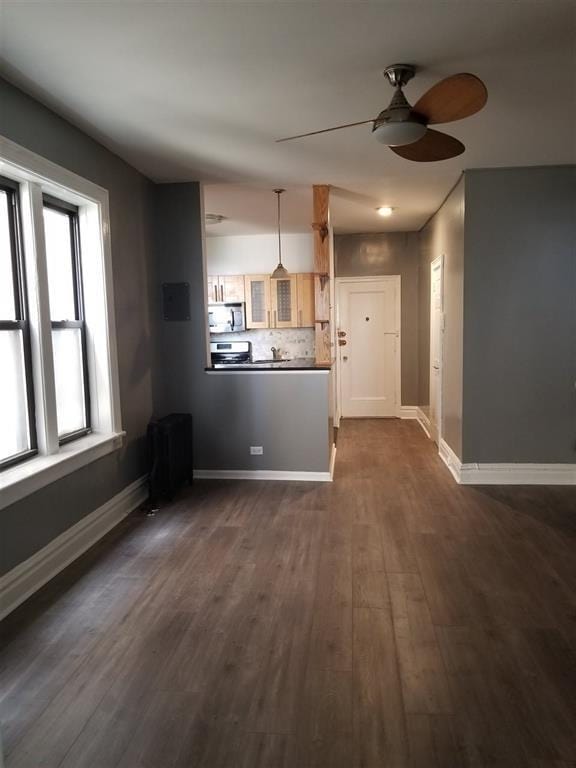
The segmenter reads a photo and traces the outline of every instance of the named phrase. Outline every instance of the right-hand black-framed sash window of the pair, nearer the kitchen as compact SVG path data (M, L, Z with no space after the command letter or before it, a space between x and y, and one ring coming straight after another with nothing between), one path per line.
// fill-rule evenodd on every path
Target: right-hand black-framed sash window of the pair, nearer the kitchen
M44 240L60 443L90 431L78 208L44 195Z

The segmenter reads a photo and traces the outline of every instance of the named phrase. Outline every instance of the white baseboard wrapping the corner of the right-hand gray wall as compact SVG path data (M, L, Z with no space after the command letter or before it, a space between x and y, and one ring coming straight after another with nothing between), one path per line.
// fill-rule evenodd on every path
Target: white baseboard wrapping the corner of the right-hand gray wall
M463 464L444 440L439 454L461 485L576 485L576 464Z

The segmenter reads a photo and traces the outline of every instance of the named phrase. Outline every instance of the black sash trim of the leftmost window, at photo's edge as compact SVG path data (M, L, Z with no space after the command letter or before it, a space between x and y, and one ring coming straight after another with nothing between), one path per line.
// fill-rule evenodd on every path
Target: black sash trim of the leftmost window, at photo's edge
M26 292L26 270L24 269L24 251L22 248L22 227L20 217L20 185L18 182L0 176L0 189L8 199L8 227L10 250L12 255L12 279L14 282L15 320L0 319L0 331L22 331L24 352L24 376L26 381L26 406L28 414L28 442L30 448L13 456L0 460L0 470L19 464L38 453L36 436L36 410L34 405L34 380L32 371L32 345L30 341L30 321Z

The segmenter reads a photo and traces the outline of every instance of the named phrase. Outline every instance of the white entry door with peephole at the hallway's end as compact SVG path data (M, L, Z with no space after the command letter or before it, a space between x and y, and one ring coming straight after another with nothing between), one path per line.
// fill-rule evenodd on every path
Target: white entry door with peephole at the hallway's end
M337 336L341 415L397 416L400 277L339 281Z

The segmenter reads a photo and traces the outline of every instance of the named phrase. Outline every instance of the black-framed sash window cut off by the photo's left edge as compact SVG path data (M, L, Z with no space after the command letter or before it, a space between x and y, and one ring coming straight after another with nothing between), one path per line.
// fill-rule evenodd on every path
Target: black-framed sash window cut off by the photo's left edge
M18 185L0 177L0 467L35 453Z

